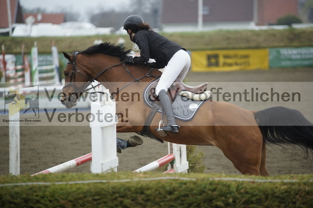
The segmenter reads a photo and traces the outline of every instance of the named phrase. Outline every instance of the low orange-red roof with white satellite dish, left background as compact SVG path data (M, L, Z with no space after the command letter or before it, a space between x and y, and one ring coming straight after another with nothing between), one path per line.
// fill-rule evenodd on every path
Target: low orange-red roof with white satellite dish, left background
M52 23L52 24L61 24L64 22L65 15L63 13L26 13L24 14L24 19L29 16L33 16L35 18L36 23Z

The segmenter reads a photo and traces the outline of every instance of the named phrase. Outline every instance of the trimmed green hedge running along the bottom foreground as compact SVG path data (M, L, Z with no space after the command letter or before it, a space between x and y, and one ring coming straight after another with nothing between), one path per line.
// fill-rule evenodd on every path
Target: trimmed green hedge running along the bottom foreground
M313 207L313 181L309 181L312 176L312 174L276 177L222 175L222 177L250 180L297 179L297 182L213 180L221 177L221 175L196 173L118 172L109 174L49 174L35 177L0 176L0 184L97 180L78 184L0 185L0 207L309 208ZM164 177L172 178L166 179ZM123 181L118 181L121 179Z

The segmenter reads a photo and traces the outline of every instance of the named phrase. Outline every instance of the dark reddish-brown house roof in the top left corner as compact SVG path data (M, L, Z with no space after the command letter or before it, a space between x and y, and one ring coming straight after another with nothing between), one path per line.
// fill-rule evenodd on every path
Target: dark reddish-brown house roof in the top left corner
M8 10L6 0L0 0L0 28L8 28ZM11 20L14 23L24 23L22 8L18 0L10 0Z

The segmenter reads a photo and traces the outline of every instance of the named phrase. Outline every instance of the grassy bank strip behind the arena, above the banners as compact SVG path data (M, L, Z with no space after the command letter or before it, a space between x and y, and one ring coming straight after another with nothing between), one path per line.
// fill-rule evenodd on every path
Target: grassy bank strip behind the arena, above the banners
M241 48L268 48L268 47L301 47L313 45L313 28L285 29L285 30L218 30L210 32L161 33L163 36L179 43L187 50L212 49L241 49ZM133 48L128 36L79 36L79 37L39 37L20 38L0 36L0 45L5 46L7 54L21 54L22 44L25 53L30 53L34 42L37 41L39 53L50 53L51 42L54 41L59 52L70 53L84 50L91 46L96 39L104 42L116 43L123 37L125 46Z

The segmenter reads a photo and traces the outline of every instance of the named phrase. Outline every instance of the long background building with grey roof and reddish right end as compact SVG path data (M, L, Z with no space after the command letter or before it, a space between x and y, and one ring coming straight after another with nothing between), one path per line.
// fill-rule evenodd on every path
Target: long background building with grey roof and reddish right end
M202 30L245 29L298 15L298 0L203 0ZM197 31L198 0L163 0L162 31Z

